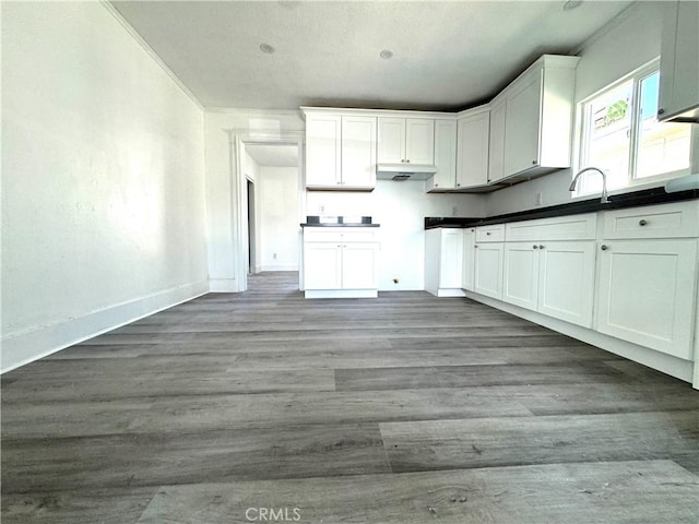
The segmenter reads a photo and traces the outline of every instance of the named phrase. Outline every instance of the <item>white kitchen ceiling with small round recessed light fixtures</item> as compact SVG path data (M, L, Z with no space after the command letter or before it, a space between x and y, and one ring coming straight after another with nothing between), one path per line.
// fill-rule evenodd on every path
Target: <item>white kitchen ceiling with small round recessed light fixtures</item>
M631 2L564 3L112 0L202 105L258 109L463 109Z

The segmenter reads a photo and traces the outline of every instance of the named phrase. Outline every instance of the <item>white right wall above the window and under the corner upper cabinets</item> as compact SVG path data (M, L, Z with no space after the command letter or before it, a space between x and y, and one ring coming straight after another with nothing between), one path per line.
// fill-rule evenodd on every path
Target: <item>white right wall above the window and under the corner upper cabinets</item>
M664 10L670 2L637 2L584 46L576 71L576 103L660 56ZM574 154L574 153L573 153ZM699 159L698 159L699 160ZM488 215L570 202L570 169L519 183L487 195Z

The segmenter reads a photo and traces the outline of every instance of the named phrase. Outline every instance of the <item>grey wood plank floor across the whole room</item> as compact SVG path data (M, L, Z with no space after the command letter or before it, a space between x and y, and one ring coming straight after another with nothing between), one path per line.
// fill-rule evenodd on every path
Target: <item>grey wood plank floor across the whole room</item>
M1 465L3 524L697 524L699 392L467 299L268 273L3 376Z

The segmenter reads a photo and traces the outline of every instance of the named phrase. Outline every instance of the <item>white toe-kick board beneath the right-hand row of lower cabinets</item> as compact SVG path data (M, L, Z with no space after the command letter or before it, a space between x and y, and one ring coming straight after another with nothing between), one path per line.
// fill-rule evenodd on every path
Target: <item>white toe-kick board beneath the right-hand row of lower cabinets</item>
M638 344L615 338L588 327L581 327L562 320L537 313L536 311L522 309L518 306L502 302L494 298L484 297L483 295L475 293L466 291L466 297L501 311L512 313L517 317L534 322L535 324L543 325L549 330L557 331L564 335L571 336L620 357L628 358L635 362L642 364L649 368L656 369L657 371L662 371L663 373L675 377L676 379L684 380L689 383L692 382L694 362L691 360L673 357L672 355L666 355L664 353L656 352L655 349L639 346Z

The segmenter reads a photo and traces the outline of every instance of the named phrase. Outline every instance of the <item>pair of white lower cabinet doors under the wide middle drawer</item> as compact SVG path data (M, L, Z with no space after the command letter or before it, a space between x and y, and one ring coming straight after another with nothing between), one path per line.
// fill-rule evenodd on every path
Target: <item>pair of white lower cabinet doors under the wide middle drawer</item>
M593 241L506 242L502 300L592 326Z

